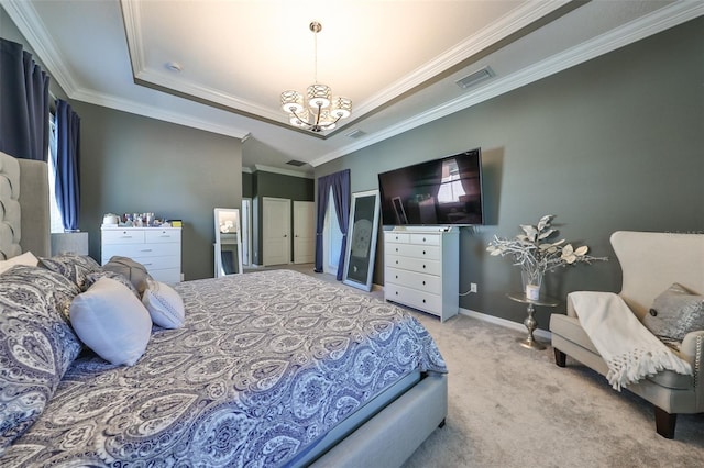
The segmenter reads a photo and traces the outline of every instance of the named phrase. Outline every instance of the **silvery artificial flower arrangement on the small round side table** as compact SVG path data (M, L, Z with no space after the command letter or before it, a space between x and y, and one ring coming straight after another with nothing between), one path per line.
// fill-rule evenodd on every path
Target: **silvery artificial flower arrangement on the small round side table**
M607 257L592 257L587 255L586 245L574 248L572 244L564 244L564 239L549 241L558 234L552 227L554 214L547 214L540 219L537 225L521 224L522 234L514 238L494 236L486 248L492 256L509 255L514 265L519 266L524 275L526 286L540 288L542 276L547 271L553 271L560 267L579 263L605 261ZM527 296L528 290L526 291ZM537 299L537 298L536 298Z

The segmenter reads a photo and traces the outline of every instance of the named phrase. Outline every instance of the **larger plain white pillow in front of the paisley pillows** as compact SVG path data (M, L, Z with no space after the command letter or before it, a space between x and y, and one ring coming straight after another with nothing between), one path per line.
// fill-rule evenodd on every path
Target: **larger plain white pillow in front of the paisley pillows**
M90 349L111 364L132 366L146 350L152 320L127 286L102 277L70 304L70 323Z

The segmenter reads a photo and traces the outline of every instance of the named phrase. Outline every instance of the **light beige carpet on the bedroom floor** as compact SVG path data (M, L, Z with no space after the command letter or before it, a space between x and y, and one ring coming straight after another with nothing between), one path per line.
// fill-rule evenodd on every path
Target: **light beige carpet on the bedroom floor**
M649 403L575 360L556 366L551 347L526 349L516 342L524 334L465 315L441 324L411 313L448 365L449 409L405 468L704 467L704 414L680 415L675 439L666 439Z

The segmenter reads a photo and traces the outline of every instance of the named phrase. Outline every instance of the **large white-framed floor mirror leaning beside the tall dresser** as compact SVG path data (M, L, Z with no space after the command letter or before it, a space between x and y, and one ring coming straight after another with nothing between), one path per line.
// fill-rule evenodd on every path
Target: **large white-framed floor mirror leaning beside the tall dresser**
M365 291L372 290L378 211L378 190L352 193L342 282Z

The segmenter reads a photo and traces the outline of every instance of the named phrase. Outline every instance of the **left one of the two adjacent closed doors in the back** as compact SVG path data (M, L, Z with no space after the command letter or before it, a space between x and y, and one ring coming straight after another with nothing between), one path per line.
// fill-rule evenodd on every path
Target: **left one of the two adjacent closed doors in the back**
M290 200L262 198L262 250L264 266L290 263Z

